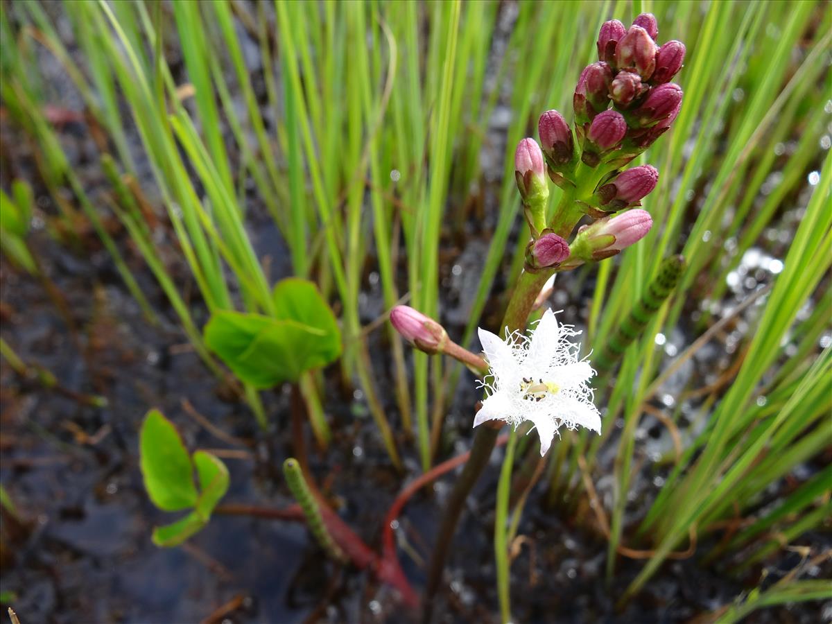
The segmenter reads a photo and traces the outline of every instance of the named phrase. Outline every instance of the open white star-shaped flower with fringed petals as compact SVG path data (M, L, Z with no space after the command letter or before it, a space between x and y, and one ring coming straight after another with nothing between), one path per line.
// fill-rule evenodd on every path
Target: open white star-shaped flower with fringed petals
M580 344L570 339L581 332L558 325L547 310L527 337L516 331L503 341L485 329L479 340L488 359L488 391L473 426L487 420L504 420L515 428L531 420L545 455L561 425L577 425L601 433L601 414L592 404L587 381L595 374L587 359L578 360Z

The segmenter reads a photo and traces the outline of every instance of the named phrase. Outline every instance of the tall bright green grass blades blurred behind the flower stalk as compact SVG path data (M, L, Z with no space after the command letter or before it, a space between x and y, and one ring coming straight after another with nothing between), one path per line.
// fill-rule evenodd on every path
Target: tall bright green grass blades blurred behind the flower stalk
M564 434L545 473L550 501L607 522L608 575L625 544L649 553L629 596L689 539L713 533L722 539L706 557L741 551L737 565L747 567L828 527L828 469L795 477L828 461L830 447L828 2L3 2L2 106L36 146L27 182L59 209L54 244L72 245L79 221L92 225L152 322L124 257L141 254L220 376L186 285L161 260L171 241L158 230L174 233L200 305L267 314L277 276L255 253L251 219L269 215L295 275L314 279L339 310L341 374L363 391L391 462L400 467L415 449L427 469L460 370L406 352L389 324L362 323L368 275L378 274L386 310L406 300L441 320L454 264L443 249L472 231L484 237L468 322L454 336L478 348L473 331L499 316L489 310L505 304L499 289L521 270L527 242L514 146L534 135L542 111L571 118L598 27L641 11L658 17L660 43L686 44L676 78L685 100L641 157L660 171L645 205L650 235L559 278L592 289L575 302L587 351L602 352L662 259L681 253L687 268L617 374L599 379L602 436ZM72 97L42 75L44 55L61 64ZM62 144L56 119L67 106L97 144L96 184L77 175ZM27 185L6 174L2 185L4 215L31 215ZM102 225L112 217L135 251ZM3 231L3 251L37 274L25 231ZM750 258L759 279L747 273ZM755 294L763 282L770 290ZM371 358L372 331L387 334L395 413L383 408L388 372ZM727 343L711 342L703 384L668 385L725 334ZM325 445L320 375L302 391ZM245 399L265 426L263 398L245 389ZM648 457L643 430L654 422L676 446ZM527 450L537 452L521 445L518 457ZM645 462L667 475L635 513L628 494ZM587 477L611 475L609 496L593 500ZM790 488L772 499L787 476ZM736 530L726 532L731 519ZM780 587L782 601L829 595L798 576Z

